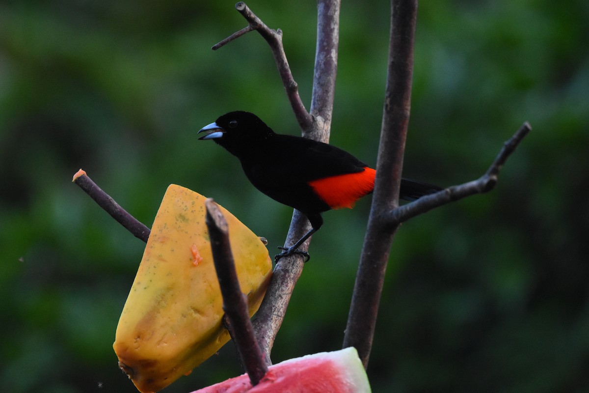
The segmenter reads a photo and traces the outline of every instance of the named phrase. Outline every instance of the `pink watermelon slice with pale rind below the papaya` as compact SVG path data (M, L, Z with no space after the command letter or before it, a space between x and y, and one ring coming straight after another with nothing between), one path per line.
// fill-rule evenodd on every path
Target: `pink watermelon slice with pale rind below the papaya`
M355 348L306 355L270 366L252 387L247 374L192 393L366 393L370 385Z

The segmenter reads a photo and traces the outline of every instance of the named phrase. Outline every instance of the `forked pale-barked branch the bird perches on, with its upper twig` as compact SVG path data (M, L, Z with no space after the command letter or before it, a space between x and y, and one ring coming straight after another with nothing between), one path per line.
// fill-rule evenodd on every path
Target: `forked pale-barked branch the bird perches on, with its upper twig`
M218 49L233 39L241 37L249 31L256 30L262 35L272 50L274 61L282 79L287 97L293 108L303 136L329 141L329 130L333 111L333 94L335 91L335 78L337 72L337 44L339 39L339 0L319 0L317 2L317 49L315 74L313 77L312 115L307 113L305 106L300 100L298 87L294 81L292 72L282 43L282 31L273 30L264 24L243 2L236 5L237 11L248 22L248 27L241 29L230 37L227 37L213 49ZM309 230L309 222L306 217L294 210L293 220L290 224L289 233L284 246L294 244L304 233ZM307 250L310 239L308 239L300 250ZM266 362L270 364L270 351L274 339L282 325L290 296L294 285L299 279L303 270L303 257L292 255L279 260L270 285L266 291L259 311L254 321L254 330L258 341L265 351Z

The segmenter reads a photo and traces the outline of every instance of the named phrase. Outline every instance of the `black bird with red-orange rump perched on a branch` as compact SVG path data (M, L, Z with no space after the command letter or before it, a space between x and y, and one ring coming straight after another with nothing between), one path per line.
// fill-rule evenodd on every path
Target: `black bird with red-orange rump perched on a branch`
M293 246L279 247L283 251L276 261L294 253L309 260L309 254L298 248L322 226L321 213L351 208L374 189L376 171L352 154L330 144L276 134L253 113L224 114L198 133L207 133L200 139L212 139L239 158L254 187L309 219L309 232ZM439 190L441 187L402 178L399 197L415 200Z

